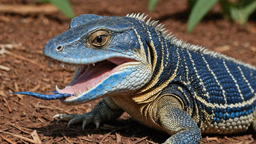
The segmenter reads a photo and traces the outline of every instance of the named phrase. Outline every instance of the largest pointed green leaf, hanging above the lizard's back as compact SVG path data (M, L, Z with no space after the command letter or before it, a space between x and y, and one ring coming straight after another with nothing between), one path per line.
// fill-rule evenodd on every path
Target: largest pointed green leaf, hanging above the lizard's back
M191 32L200 20L211 10L218 0L198 0L194 4L188 19L187 32Z

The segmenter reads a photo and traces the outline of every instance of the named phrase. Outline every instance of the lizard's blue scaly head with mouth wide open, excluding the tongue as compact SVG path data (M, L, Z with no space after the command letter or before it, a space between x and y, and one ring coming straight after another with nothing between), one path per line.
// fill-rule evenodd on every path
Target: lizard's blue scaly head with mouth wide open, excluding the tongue
M51 63L76 67L72 81L58 93L73 96L61 99L65 104L80 104L104 96L130 94L152 76L148 43L143 31L143 15L102 17L80 15L70 28L49 40L43 50ZM142 27L142 25L141 25Z

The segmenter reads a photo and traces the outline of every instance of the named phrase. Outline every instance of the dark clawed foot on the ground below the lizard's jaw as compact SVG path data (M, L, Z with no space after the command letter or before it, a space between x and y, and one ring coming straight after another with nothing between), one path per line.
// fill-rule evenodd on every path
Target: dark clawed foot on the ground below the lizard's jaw
M77 124L79 122L83 122L83 126L82 126L83 130L84 130L84 127L86 125L88 125L88 124L90 124L92 122L96 125L96 128L99 128L100 122L102 121L99 114L92 113L92 112L84 113L83 115L77 115L77 114L68 114L68 115L57 114L57 115L54 115L53 118L58 118L57 122L59 122L60 120L61 121L68 121L68 127L71 124Z

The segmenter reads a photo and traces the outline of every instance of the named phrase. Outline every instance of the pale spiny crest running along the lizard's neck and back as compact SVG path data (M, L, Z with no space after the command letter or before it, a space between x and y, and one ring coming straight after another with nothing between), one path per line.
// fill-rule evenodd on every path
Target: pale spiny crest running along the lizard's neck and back
M160 32L163 35L163 37L166 40L170 41L173 45L176 45L179 48L183 48L186 50L192 50L192 51L198 52L200 54L207 54L207 55L210 55L211 57L220 57L220 59L226 59L227 61L236 62L237 64L242 64L244 66L247 66L248 68L256 69L255 66L252 66L250 64L245 64L244 62L236 60L232 57L228 57L227 55L223 55L218 52L209 51L209 50L205 49L204 47L200 47L198 45L191 45L191 43L187 43L186 41L178 40L174 36L174 34L172 34L172 32L167 34L168 30L164 31L165 30L164 24L157 25L159 20L151 20L151 17L150 17L150 18L148 18L147 21L145 21L146 18L148 17L148 15L144 16L144 13L141 15L140 15L140 13L127 14L126 17L136 18L138 20L145 22L145 24L147 24L151 27L154 27L158 32Z

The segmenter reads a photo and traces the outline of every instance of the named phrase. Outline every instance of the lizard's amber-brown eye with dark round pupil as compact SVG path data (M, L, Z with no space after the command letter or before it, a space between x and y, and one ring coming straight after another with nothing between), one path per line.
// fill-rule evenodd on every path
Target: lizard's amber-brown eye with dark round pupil
M88 38L87 43L95 48L102 48L110 38L108 31L95 31Z

